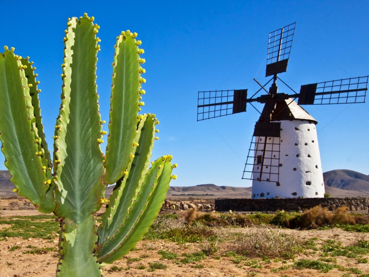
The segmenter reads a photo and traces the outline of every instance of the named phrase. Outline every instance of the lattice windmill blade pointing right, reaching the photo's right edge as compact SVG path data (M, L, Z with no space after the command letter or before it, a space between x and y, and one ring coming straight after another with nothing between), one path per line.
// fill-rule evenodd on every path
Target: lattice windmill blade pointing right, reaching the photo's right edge
M369 76L302 85L299 105L365 103Z

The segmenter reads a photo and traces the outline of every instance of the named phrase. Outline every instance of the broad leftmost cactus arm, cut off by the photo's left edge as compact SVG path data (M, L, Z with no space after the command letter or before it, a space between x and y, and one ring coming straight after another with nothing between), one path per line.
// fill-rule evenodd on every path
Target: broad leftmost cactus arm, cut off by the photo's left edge
M19 59L13 51L0 54L1 151L18 195L28 198L40 212L50 213L55 209L51 180L42 168L44 153L39 151L30 90Z

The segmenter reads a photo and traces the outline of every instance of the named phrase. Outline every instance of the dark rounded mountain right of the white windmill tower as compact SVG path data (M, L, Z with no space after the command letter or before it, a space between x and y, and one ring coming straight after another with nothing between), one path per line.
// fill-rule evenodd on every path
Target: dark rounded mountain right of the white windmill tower
M356 171L339 169L323 173L324 184L332 188L349 191L369 191L369 175Z

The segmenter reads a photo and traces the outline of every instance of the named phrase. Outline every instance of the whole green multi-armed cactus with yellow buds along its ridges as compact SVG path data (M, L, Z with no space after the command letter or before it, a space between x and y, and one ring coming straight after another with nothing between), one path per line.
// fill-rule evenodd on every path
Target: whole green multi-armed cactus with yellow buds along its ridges
M114 45L110 121L106 154L100 149L103 123L96 86L94 18L68 18L63 38L62 93L56 119L54 153L43 133L36 81L29 57L0 53L0 140L11 181L42 213L61 224L56 276L102 276L101 267L135 246L157 216L169 188L171 155L152 162L155 114L138 114L145 79L136 33L129 30ZM116 183L110 199L107 185ZM106 205L103 223L94 213Z

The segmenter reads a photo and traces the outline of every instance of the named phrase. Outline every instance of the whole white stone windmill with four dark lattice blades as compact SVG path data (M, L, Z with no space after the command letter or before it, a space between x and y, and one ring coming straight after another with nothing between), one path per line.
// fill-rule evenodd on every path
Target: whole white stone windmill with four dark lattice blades
M198 92L197 121L246 112L247 103L264 104L242 175L253 180L252 198L324 197L318 122L301 105L365 102L369 76L302 85L299 93L279 78L287 71L295 29L296 22L269 33L265 76L272 78L264 85L254 79L260 89L251 97L247 89ZM280 93L277 81L290 94ZM261 90L266 94L254 98Z

